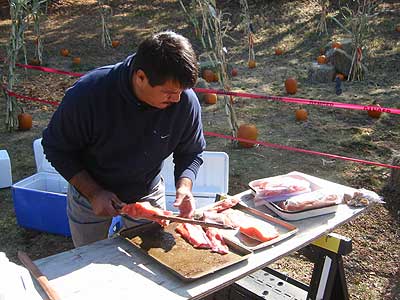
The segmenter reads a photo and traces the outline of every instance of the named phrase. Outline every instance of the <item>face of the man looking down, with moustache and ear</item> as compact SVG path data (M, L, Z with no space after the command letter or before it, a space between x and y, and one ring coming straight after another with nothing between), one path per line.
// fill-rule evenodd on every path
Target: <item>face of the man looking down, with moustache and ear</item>
M133 89L143 102L160 109L179 102L182 88L178 82L168 80L163 85L151 86L146 74L138 70L133 75Z

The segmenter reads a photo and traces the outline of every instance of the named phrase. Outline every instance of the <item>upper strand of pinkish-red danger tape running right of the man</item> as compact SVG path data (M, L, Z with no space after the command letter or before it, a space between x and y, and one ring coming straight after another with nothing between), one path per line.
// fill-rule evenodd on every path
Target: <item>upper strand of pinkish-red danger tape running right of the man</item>
M213 90L213 89L204 89L204 88L194 88L193 89L197 93L214 93L218 95L228 95L235 96L241 98L252 98L252 99L266 99L280 102L289 102L289 103L300 103L300 104L311 104L311 105L319 105L319 106L328 106L328 107L336 107L336 108L347 108L347 109L356 109L356 110L374 110L380 111L390 114L400 114L400 109L397 108L387 108L381 106L373 106L373 105L358 105L358 104L348 104L341 102L333 102L333 101L322 101L322 100L311 100L311 99L301 99L301 98L291 98L291 97L279 97L279 96L267 96L260 94L250 94L244 92L230 92L224 90Z

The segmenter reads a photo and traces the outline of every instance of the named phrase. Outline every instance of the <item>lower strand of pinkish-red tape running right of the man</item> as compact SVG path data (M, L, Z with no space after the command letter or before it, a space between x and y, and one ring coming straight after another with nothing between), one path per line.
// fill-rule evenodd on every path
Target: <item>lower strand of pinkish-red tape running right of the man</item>
M295 151L295 152L302 152L302 153L307 153L307 154L325 156L325 157L330 157L330 158L334 158L334 159L354 161L354 162L367 164L367 165L374 165L374 166L386 167L386 168L392 168L392 169L400 169L400 166L392 166L392 165L388 165L388 164L382 164L382 163L367 161L367 160L358 159L358 158L351 158L351 157L340 156L340 155L335 155L335 154L329 154L329 153L324 153L324 152L318 152L318 151L294 148L294 147L289 147L289 146L284 146L284 145L279 145L279 144L272 144L272 143L267 143L267 142L262 142L262 141L235 138L233 136L223 135L223 134L214 133L214 132L205 131L204 135L219 137L219 138L228 139L228 140L246 142L246 143L251 143L251 144L259 144L259 145L262 145L262 146L265 146L265 147L271 147L271 148L276 148L276 149L283 149L283 150L289 150L289 151Z

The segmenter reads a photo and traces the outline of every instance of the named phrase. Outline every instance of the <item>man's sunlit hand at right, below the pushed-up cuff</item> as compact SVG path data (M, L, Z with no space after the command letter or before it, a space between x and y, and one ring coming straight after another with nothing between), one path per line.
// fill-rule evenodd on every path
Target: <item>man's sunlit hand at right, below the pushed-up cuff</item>
M179 207L180 216L184 218L193 217L196 208L192 194L192 181L189 178L181 178L176 184L175 207Z

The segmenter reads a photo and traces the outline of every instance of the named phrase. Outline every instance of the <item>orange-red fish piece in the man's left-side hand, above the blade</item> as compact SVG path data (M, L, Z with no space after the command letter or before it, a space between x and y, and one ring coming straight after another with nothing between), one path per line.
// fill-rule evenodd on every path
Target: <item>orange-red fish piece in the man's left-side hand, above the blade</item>
M172 211L155 207L148 201L127 204L122 207L121 212L135 219L148 219L151 221L156 221L163 227L167 226L169 221L158 219L154 217L154 215L171 216L173 214Z

